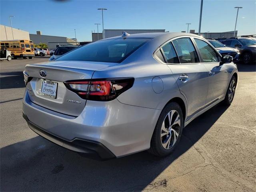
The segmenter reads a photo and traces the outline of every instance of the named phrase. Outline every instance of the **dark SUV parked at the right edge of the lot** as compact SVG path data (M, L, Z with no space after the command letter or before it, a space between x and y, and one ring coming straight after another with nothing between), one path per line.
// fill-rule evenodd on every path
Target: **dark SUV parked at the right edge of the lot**
M247 37L232 37L219 40L228 47L236 48L241 53L244 64L255 62L256 60L256 39Z

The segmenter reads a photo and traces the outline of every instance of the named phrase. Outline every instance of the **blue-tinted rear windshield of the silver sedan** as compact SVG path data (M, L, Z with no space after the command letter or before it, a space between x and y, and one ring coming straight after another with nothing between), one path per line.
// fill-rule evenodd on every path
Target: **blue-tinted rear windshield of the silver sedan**
M115 38L96 41L86 44L56 60L120 63L150 39L151 38Z

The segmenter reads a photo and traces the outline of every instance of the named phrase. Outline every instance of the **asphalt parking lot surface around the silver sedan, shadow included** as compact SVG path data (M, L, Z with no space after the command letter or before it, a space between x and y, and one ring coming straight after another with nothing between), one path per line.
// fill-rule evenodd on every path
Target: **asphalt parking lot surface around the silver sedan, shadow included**
M256 191L256 68L238 64L230 107L191 122L171 156L108 161L52 144L22 118L22 71L48 58L0 62L0 191Z

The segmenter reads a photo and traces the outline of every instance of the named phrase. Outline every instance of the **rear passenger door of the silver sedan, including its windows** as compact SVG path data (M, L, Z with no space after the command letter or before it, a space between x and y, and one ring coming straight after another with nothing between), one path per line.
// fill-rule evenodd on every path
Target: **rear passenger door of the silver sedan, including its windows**
M162 47L166 62L187 101L188 118L204 108L208 91L208 71L190 38L178 38ZM178 57L177 57L178 55Z

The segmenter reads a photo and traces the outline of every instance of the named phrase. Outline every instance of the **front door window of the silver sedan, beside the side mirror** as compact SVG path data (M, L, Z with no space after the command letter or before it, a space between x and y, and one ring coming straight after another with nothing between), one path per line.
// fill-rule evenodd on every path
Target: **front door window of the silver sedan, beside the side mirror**
M215 50L205 41L194 39L196 45L201 53L202 61L205 63L219 62L219 58Z

